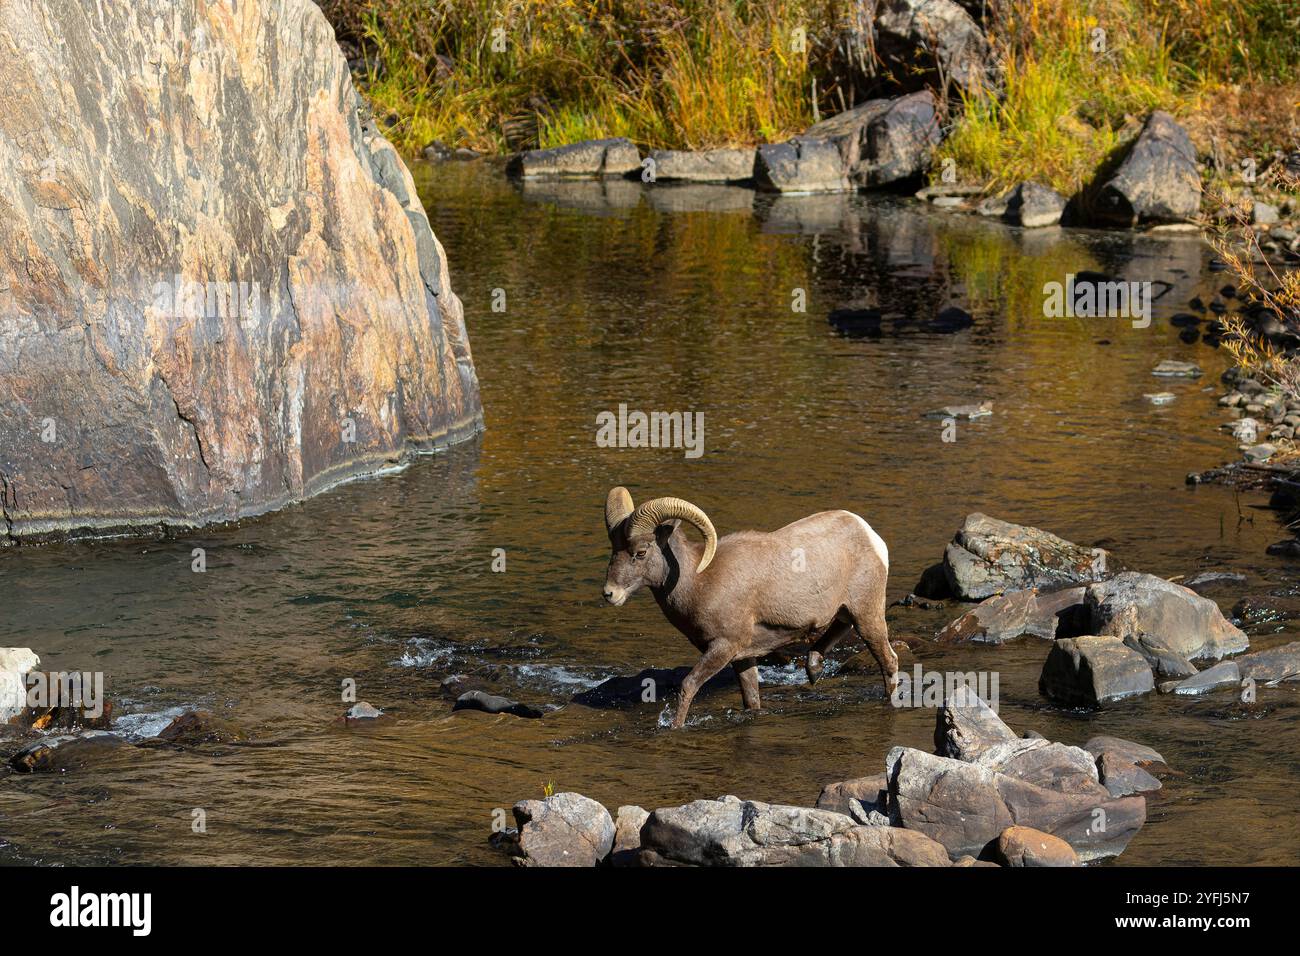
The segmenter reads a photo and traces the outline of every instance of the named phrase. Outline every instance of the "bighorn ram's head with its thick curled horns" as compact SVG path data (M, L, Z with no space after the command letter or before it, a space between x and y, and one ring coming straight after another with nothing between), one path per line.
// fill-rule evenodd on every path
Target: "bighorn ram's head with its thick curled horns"
M633 507L627 488L615 488L604 501L604 529L610 533L610 570L604 578L604 600L615 607L641 587L659 587L673 572L668 538L681 522L689 522L705 536L699 574L714 559L718 532L698 507L681 498L653 498Z

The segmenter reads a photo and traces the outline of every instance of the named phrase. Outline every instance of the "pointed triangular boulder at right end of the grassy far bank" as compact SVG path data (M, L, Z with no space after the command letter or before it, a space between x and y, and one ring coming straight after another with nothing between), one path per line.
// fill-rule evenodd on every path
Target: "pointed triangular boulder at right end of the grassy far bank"
M1128 228L1139 222L1191 220L1200 209L1196 148L1174 117L1157 109L1102 186L1097 215L1110 225Z

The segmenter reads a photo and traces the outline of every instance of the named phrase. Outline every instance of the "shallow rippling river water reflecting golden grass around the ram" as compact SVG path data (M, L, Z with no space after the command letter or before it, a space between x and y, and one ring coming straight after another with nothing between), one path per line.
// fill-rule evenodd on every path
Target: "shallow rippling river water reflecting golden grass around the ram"
M971 511L1158 575L1240 571L1244 584L1213 594L1225 610L1300 589L1295 564L1265 555L1282 532L1260 496L1184 484L1232 457L1214 401L1226 356L1169 321L1225 281L1195 239L1026 233L897 198L521 191L486 164L416 176L465 302L486 432L234 528L0 553L0 646L104 671L135 735L202 708L257 744L0 770L0 861L500 864L494 810L547 786L611 810L723 793L809 804L828 782L879 773L896 744L931 748L933 711L888 706L875 674L810 688L801 670L768 667L763 711L723 689L697 700L682 732L660 727L662 701L567 704L607 676L697 658L647 593L602 605L614 484L694 501L720 533L857 511L889 544L890 600ZM1145 329L1044 317L1044 284L1082 271L1171 287ZM950 303L974 328L926 332ZM878 337L827 321L872 307ZM1206 373L1153 377L1161 359ZM1171 405L1143 397L1164 390ZM974 401L994 414L958 423L954 441L924 418ZM597 415L620 403L702 412L703 454L598 447ZM205 574L191 571L194 548ZM958 613L894 607L889 622L915 640ZM1252 632L1256 648L1287 640L1286 624ZM1297 862L1294 688L1261 689L1253 709L1228 692L1071 713L1037 695L1045 654L1024 639L901 657L907 670L996 671L1018 731L1161 750L1176 773L1119 865ZM454 678L558 709L452 714ZM346 679L382 721L338 719Z

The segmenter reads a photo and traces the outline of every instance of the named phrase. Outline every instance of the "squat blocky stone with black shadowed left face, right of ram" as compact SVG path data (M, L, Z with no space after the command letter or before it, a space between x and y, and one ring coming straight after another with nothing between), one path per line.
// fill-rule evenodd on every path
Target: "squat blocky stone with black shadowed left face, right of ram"
M1088 635L1052 644L1039 692L1066 706L1095 708L1156 687L1145 658L1118 637Z

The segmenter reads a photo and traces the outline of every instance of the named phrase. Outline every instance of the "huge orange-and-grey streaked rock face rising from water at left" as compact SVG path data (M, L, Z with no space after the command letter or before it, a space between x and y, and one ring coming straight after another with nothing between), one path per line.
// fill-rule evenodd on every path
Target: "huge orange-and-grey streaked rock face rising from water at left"
M13 0L0 56L0 535L254 515L481 427L311 0Z

